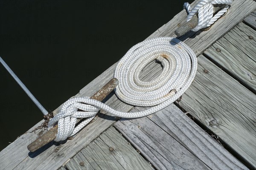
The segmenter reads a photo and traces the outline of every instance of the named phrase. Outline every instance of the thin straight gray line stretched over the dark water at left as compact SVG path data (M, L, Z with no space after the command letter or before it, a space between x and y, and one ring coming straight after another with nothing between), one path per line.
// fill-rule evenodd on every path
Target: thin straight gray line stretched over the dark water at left
M29 96L29 98L35 103L35 105L40 109L40 111L44 114L47 115L48 111L41 105L40 102L35 98L35 96L29 91L28 88L26 88L26 85L21 82L21 80L16 76L16 74L12 71L11 68L6 64L6 62L3 61L2 57L0 57L0 62L6 68L6 70L11 74L11 76L15 79L15 81L20 85L20 87L25 91L25 93Z

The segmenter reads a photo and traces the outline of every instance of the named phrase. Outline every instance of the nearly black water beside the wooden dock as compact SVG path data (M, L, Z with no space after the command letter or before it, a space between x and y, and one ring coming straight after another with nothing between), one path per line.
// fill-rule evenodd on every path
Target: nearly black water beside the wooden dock
M44 108L54 110L171 20L183 3L0 0L0 56ZM0 150L42 115L0 65Z

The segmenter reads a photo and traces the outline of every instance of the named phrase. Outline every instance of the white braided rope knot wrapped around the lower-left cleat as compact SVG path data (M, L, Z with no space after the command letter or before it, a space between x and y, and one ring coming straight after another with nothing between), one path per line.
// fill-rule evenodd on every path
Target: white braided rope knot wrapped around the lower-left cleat
M49 129L58 122L56 142L73 136L96 116L100 108L83 103L84 99L87 98L89 99L89 97L79 97L67 100L62 106L61 111L49 121ZM75 127L78 118L87 119Z

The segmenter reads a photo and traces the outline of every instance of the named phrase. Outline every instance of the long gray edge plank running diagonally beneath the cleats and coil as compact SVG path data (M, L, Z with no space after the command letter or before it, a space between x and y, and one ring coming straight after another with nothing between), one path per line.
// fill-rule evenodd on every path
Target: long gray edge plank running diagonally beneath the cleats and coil
M215 42L215 40L220 38L230 28L235 26L240 20L255 10L254 8L255 2L253 0L239 0L239 2L234 1L230 12L225 16L225 19L222 18L218 20L209 31L199 31L197 34L200 34L200 36L196 38L193 37L195 35L194 33L186 34L180 38L181 40L185 40L196 54L201 54L209 45ZM177 14L173 20L161 27L161 29L156 31L148 38L174 35L175 29L180 26L180 23L185 22L185 19L186 12L183 10ZM215 36L205 42L205 37L207 34ZM190 39L190 37L192 37L192 39ZM113 70L113 68L114 66L108 70ZM102 75L90 82L89 85L84 87L76 96L92 95L111 78L112 77L109 73L106 74L106 72L104 72ZM121 109L122 111L130 111L132 108L132 106L125 105L120 102L119 99L116 99L116 96L112 96L108 104L113 108ZM55 110L55 113L58 112L58 109ZM26 149L27 145L32 142L32 140L37 138L38 135L45 133L45 130L43 132L38 130L36 133L29 133L35 127L41 125L43 121L39 122L27 133L20 136L15 142L0 152L0 169L58 169L68 159L78 153L79 150L87 146L89 142L84 142L84 138L86 136L91 137L91 139L95 139L102 131L107 129L116 121L116 119L108 115L102 115L101 117L102 119L96 119L93 123L81 130L75 139L67 141L65 144L60 144L60 146L47 145L46 147L42 148L41 154L39 154L39 152L29 153Z

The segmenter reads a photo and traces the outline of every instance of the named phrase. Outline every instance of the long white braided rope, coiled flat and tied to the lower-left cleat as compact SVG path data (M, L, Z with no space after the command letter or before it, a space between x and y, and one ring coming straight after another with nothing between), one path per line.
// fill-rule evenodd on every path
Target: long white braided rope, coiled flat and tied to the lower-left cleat
M150 82L141 81L140 72L154 60L162 63L162 73ZM196 69L197 58L194 52L180 40L159 37L140 42L116 66L114 77L119 80L119 85L115 92L119 99L128 104L154 107L141 112L125 113L89 97L79 97L64 103L61 111L49 121L49 128L58 122L55 141L61 141L81 130L100 109L124 118L137 118L160 111L175 102L189 88ZM82 117L87 119L75 127L76 119Z

